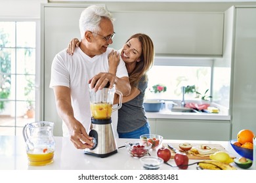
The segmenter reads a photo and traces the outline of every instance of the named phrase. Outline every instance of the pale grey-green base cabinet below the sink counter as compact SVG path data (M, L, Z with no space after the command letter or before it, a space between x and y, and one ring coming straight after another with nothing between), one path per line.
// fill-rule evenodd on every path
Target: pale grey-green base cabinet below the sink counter
M231 135L229 120L149 119L151 133L164 139L228 141Z

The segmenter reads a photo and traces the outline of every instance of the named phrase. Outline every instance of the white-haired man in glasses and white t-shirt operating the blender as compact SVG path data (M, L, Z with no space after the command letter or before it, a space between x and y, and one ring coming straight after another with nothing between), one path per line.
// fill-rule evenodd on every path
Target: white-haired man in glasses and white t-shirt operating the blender
M113 21L110 12L103 7L86 8L79 20L79 48L73 56L65 49L53 59L50 87L54 90L58 115L64 121L64 136L70 135L78 149L93 147L93 138L85 129L91 123L89 84L96 91L110 82L110 88L116 84L116 89L124 96L131 92L123 61L117 67L116 76L108 73L108 55L119 58L116 51L108 48L115 34Z

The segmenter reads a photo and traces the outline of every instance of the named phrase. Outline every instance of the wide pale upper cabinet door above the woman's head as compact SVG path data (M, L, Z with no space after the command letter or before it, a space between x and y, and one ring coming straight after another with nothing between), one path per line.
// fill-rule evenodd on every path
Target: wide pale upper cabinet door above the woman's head
M152 38L156 54L221 56L224 12L112 12L114 48L134 33Z

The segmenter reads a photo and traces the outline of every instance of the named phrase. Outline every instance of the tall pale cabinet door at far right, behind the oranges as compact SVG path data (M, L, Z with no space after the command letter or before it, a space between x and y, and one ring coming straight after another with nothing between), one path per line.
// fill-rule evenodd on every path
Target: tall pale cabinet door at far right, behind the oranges
M235 10L232 138L241 129L256 133L256 7Z

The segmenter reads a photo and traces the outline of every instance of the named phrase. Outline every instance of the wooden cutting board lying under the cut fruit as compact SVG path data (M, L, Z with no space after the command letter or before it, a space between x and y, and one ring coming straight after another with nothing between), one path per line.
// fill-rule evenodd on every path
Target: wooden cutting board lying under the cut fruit
M177 150L181 150L179 148L179 143L170 143L170 144L173 145L173 147L176 148ZM192 143L193 148L199 148L201 145L202 144L193 144ZM217 148L219 151L227 152L226 149L223 146L221 146L221 144L203 144L203 145L209 146L210 148ZM167 144L165 144L165 143L163 143L163 146L169 148L167 146ZM169 148L169 150L171 150L171 149ZM229 154L230 158L236 158L236 156L233 156L230 153L228 153L228 154ZM187 154L187 155L188 155L188 159L210 159L209 155L203 156L203 157L202 156L196 156L195 154ZM173 150L171 150L171 158L173 159L174 156L175 156L175 152Z

